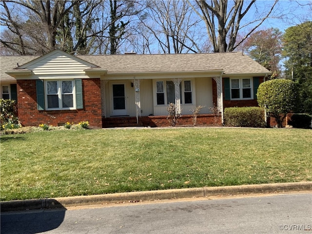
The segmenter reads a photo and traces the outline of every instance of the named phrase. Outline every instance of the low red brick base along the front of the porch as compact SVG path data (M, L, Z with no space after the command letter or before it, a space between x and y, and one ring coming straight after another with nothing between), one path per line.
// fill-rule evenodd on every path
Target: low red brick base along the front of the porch
M113 127L169 127L167 116L142 117L107 117L102 118L103 128ZM193 126L193 115L182 115L176 126ZM222 126L221 114L200 114L196 119L196 126Z

